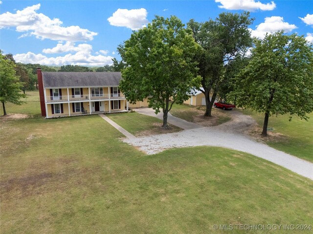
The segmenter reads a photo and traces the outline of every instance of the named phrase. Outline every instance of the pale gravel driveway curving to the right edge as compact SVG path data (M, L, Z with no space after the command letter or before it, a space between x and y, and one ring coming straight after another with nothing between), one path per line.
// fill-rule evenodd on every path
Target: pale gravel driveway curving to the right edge
M153 112L152 109L151 111ZM239 112L234 112L233 115L232 121L214 127L201 127L183 130L178 133L136 137L133 139L124 139L124 142L139 147L140 150L149 155L171 148L220 146L264 158L313 180L313 163L275 150L266 144L246 137L243 134L243 130L255 124L254 120ZM237 123L234 124L233 121Z

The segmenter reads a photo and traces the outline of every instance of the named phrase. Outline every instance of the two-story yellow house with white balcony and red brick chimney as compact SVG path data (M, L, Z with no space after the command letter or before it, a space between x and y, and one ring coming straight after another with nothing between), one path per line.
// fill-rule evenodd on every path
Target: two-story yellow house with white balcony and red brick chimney
M118 89L120 72L42 72L37 69L41 113L46 118L128 111Z

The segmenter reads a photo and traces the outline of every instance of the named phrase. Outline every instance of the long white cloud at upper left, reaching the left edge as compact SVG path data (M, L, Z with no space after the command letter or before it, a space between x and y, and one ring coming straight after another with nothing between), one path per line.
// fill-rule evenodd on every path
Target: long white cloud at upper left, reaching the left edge
M18 10L15 14L6 12L0 15L0 28L16 27L18 32L26 32L21 37L35 36L38 39L65 41L92 40L97 33L79 26L62 27L63 22L57 18L51 20L42 13L37 13L40 4Z

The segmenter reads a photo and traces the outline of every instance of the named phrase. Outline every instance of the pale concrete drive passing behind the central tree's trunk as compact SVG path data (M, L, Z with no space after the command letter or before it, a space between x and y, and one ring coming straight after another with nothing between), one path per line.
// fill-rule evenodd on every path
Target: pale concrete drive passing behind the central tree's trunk
M160 113L158 113L157 115L155 113L155 110L152 108L136 108L136 109L134 109L134 111L138 112L139 114L142 114L142 115L157 117L157 118L163 120L163 112L162 111ZM185 130L202 128L202 126L200 126L198 124L187 122L186 120L183 120L181 118L174 117L174 116L172 116L171 113L168 113L168 115L167 115L167 122L170 124L173 124L179 128L185 129Z

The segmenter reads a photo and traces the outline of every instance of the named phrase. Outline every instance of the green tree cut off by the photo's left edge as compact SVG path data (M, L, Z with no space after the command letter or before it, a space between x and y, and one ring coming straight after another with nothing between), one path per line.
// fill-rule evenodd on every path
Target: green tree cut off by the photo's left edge
M6 116L5 103L11 102L21 105L25 95L21 94L22 83L16 76L14 62L6 59L0 51L0 101L2 102L3 114Z

